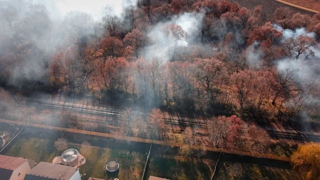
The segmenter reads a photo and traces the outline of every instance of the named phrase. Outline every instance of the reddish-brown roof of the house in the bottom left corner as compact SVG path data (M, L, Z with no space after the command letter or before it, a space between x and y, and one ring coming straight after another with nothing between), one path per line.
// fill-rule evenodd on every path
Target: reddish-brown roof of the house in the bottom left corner
M27 162L28 159L20 157L11 157L7 155L0 155L0 168L14 170L24 162Z

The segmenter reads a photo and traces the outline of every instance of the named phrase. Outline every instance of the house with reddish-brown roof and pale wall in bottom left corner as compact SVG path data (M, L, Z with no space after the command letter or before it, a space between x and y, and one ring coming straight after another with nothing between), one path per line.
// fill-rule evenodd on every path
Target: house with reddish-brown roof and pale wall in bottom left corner
M23 180L31 166L28 159L0 155L0 179Z

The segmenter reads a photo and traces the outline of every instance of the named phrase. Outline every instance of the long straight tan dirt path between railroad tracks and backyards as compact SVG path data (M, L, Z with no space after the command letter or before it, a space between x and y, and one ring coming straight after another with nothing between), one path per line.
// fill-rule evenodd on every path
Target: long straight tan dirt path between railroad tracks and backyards
M0 119L0 122L18 124L18 125L24 124L24 122L21 122L21 121L6 120L6 119ZM135 141L135 142L153 143L153 144L167 145L167 146L172 146L172 147L181 147L181 146L184 145L182 143L166 142L166 141L161 141L161 140L143 139L143 138L138 138L138 137L129 137L129 136L124 136L124 135L115 135L115 134L94 132L94 131L88 131L88 130L56 127L56 126L43 125L43 124L26 123L26 125L27 126L31 126L31 127L37 127L37 128L50 129L50 130L66 131L66 132L71 132L71 133L94 135L94 136L115 138L115 139ZM189 147L192 148L192 149L203 149L203 147L196 146L196 145L190 145ZM205 147L205 150L212 151L212 152L223 152L223 153L228 153L228 154L244 155L244 156L257 157L257 158L272 159L272 160L289 161L289 158L287 158L287 157L269 155L269 154L260 154L260 153L253 153L253 152L226 150L226 149L215 148L215 147Z

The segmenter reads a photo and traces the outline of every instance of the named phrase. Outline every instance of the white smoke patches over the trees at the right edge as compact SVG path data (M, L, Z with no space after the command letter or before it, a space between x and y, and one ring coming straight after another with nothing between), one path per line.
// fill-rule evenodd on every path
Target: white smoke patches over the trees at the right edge
M307 32L305 28L291 30L283 29L279 25L274 25L274 27L282 32L283 42L288 39L298 40L299 36L315 37L314 32ZM306 50L307 53L301 54L298 58L287 57L278 60L276 64L279 75L285 77L289 74L289 80L295 83L296 88L299 89L299 93L287 99L285 105L295 108L301 107L301 117L303 119L309 118L309 110L303 108L304 106L315 107L315 109L320 107L320 97L317 93L318 88L320 88L320 49L318 45L310 46L310 50ZM299 107L299 105L301 106Z

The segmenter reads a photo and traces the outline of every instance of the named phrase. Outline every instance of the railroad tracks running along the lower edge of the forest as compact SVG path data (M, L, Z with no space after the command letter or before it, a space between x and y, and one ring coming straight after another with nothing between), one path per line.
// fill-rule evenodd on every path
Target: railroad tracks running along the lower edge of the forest
M93 108L93 107L84 107L84 106L75 106L61 103L53 103L53 102L45 102L39 100L32 99L24 99L29 104L45 106L45 107L54 107L54 108L62 108L73 111L80 111L83 113L97 113L102 115L115 115L115 116L131 116L138 118L147 118L148 115L142 113L125 113L119 110L108 110L103 108ZM190 120L190 119L177 119L177 118L167 118L165 119L167 123L180 125L180 126L198 126L205 127L206 122L200 120ZM287 131L277 131L268 129L266 132L273 138L286 138L286 139L294 139L294 140L302 140L302 141L320 141L320 135L300 133L300 132L287 132Z

